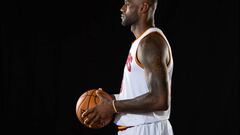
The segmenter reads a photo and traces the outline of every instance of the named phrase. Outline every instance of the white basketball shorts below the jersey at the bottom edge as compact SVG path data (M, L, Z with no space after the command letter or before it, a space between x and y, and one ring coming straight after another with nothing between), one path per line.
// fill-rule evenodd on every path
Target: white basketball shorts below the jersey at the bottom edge
M163 120L118 131L118 135L173 135L173 130L169 120Z

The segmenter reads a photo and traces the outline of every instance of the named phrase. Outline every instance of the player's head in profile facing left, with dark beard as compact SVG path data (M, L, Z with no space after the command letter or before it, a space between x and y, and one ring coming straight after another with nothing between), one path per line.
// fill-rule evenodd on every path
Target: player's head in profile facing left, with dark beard
M121 8L123 26L139 23L139 20L154 19L157 0L125 0Z

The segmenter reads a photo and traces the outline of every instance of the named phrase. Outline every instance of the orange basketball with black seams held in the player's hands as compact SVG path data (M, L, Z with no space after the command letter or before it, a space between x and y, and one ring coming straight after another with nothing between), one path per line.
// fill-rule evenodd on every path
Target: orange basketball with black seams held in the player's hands
M107 119L104 119L102 121L104 121L104 125L103 124L95 124L91 127L89 127L88 125L85 125L84 124L84 119L82 118L82 114L87 110L87 109L90 109L90 108L93 108L95 107L97 104L99 104L101 101L99 99L99 97L96 95L96 91L98 89L91 89L91 90L88 90L86 92L84 92L79 98L78 98L78 101L77 101L77 104L76 104L76 114L77 114L77 118L78 120L86 127L88 128L102 128L104 126L106 126L107 124L109 124L112 120L112 117L110 118L107 118ZM108 99L112 100L112 97L102 91L107 97Z

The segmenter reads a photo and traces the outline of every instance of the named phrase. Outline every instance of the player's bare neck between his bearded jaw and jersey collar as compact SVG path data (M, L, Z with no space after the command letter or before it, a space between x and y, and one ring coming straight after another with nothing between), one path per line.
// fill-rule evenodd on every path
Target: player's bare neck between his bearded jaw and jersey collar
M147 29L155 27L153 21L131 25L131 31L136 38L139 38Z

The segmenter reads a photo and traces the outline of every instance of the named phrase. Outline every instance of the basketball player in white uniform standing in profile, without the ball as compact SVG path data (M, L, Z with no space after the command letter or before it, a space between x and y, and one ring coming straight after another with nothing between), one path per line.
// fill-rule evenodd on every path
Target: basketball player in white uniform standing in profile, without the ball
M119 135L173 135L169 122L173 57L163 32L155 27L157 0L125 0L121 8L123 26L131 26L132 43L119 94L103 101L82 117L89 126L112 117ZM103 123L104 124L104 123Z

